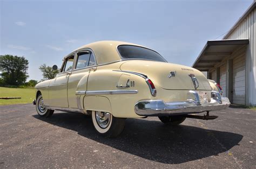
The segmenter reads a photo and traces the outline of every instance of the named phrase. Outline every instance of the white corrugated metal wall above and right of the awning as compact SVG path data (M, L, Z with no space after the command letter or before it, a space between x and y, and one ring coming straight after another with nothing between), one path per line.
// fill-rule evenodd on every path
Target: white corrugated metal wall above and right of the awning
M249 39L246 51L246 104L256 105L256 9L225 39Z

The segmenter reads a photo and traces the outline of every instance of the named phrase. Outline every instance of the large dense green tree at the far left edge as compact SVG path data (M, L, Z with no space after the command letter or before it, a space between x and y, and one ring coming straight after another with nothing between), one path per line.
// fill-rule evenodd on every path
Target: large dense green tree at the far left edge
M24 57L0 55L0 72L5 85L22 85L29 77L29 61Z

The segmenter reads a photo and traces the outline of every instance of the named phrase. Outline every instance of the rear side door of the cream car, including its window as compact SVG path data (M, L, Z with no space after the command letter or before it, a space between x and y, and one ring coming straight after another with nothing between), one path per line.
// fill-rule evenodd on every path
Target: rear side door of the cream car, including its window
M76 53L76 60L72 74L68 81L69 108L79 108L76 95L77 85L82 81L83 91L87 89L87 79L91 71L96 71L95 55L90 50L80 50Z

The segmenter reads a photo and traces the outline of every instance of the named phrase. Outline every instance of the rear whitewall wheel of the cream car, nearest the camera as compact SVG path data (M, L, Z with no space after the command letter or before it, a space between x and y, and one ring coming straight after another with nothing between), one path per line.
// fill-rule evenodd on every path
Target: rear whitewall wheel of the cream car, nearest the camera
M113 117L109 112L92 111L92 123L99 135L117 137L124 130L125 118Z

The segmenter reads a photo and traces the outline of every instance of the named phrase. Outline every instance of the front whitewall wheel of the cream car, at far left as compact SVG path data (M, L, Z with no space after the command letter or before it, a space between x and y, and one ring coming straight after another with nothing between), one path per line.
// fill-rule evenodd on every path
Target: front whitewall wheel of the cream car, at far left
M42 117L50 117L54 112L54 110L48 110L45 108L42 94L40 94L36 99L36 111L37 114Z

